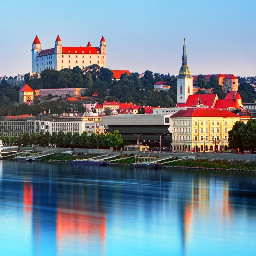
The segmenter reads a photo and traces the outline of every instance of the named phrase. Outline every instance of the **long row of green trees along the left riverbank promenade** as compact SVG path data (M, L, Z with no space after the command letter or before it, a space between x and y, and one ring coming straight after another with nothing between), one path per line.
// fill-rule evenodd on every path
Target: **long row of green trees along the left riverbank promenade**
M88 135L87 132L83 132L81 135L79 132L72 134L71 132L41 132L37 135L32 132L31 135L26 132L20 133L18 137L0 137L0 140L8 146L24 146L27 145L40 145L41 147L61 147L61 148L119 148L123 145L123 139L118 131L113 133L108 132L104 134L96 134L95 132Z

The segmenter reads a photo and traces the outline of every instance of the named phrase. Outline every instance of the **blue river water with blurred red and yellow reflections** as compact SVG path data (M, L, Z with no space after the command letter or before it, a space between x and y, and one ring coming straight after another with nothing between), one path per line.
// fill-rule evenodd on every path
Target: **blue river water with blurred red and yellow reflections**
M1 255L256 255L256 174L0 161Z

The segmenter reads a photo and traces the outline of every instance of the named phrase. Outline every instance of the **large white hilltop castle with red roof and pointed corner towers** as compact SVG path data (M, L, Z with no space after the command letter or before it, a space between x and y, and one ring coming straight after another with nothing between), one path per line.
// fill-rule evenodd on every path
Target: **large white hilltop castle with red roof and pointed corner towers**
M41 42L36 36L32 44L32 73L45 69L61 70L79 66L97 64L106 68L106 41L101 37L100 47L92 47L90 41L86 47L62 46L60 36L55 40L54 48L41 50Z

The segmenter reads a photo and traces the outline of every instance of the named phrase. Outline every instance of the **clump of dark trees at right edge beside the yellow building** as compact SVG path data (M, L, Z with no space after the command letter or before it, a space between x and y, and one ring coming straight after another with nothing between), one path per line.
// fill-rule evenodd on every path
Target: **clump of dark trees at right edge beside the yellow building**
M251 150L256 153L256 119L249 119L247 124L237 121L228 132L229 148L239 148L240 152Z

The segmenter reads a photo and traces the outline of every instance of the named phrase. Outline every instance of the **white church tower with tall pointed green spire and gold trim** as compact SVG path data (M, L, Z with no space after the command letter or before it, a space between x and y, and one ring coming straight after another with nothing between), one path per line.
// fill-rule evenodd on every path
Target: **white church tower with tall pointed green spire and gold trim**
M182 66L177 77L177 103L186 103L188 95L193 94L193 77L188 68L188 57L186 49L186 39L184 38Z

